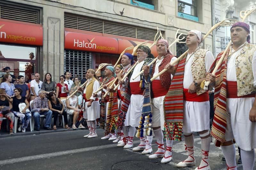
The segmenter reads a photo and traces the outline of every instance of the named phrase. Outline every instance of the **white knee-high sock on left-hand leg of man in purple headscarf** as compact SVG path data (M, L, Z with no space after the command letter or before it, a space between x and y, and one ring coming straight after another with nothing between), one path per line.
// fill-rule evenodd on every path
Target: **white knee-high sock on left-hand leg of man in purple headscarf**
M220 146L228 167L236 170L236 147L234 144ZM242 151L242 150L241 150Z

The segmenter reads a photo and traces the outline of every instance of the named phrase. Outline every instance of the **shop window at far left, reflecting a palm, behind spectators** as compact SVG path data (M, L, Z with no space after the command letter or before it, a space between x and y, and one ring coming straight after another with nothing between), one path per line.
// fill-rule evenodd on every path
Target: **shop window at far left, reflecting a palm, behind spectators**
M27 81L36 72L36 59L36 47L0 44L0 77L5 74L3 69L10 67L11 74L16 78L22 75Z

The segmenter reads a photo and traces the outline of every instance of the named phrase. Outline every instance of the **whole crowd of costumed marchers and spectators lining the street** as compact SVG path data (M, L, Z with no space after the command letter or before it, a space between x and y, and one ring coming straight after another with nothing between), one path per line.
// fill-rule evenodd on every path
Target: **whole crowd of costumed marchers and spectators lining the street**
M188 32L188 53L179 60L169 50L168 41L160 39L156 59L148 46L140 45L136 49L137 61L132 54L124 53L121 64L106 66L101 78L88 69L82 80L75 77L73 81L71 73L65 72L57 84L50 73L42 82L36 73L25 83L23 76L15 79L6 67L0 85L0 127L3 117L7 118L13 134L16 116L18 130L25 132L32 117L34 130L39 131L40 115L44 115L44 129L52 130L53 117L56 130L57 118L63 115L62 123L69 129L69 115L73 117L73 129L84 128L86 122L90 132L85 138L98 137L99 124L105 129L102 140L142 154L153 152L154 133L158 147L149 159L162 158L161 163L172 160L172 142L181 141L183 134L188 158L177 167L196 165L202 170L210 170L211 141L221 148L227 169L236 170L236 143L241 148L244 170L252 170L256 147L256 45L250 44L249 33L250 27L244 22L231 27L232 46L215 74L212 71L224 51L214 57L211 51L201 48L203 35L197 30ZM205 81L211 82L208 87ZM214 92L211 129L210 92ZM202 160L198 164L193 132L201 138ZM136 147L134 136L140 139Z

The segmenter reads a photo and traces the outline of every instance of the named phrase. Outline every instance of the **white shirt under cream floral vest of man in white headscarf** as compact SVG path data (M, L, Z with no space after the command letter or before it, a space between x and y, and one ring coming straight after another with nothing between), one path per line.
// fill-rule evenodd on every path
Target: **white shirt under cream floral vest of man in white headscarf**
M183 88L188 89L189 86L193 83L194 78L192 76L192 71L191 71L191 65L193 62L194 54L190 57L191 54L188 53L188 56L186 58L186 65L185 65L185 70L184 70L184 79L183 79ZM214 62L215 58L212 54L211 51L207 51L204 62L205 62L205 69L206 72L208 72L212 66L212 63Z

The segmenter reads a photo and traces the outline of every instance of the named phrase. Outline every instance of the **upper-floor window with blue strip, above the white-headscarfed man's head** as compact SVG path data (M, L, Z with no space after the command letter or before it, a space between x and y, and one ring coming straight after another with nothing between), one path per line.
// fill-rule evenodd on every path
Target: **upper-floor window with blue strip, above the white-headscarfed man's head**
M194 21L198 21L197 0L178 0L178 16Z

